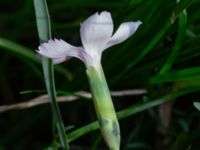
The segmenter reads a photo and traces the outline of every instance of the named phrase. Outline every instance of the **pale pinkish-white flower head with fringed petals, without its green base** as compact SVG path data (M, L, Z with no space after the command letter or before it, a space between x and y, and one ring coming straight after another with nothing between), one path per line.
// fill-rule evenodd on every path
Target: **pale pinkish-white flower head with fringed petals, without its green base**
M49 40L39 46L37 51L53 59L55 64L62 63L70 57L82 60L86 66L96 66L101 61L102 52L119 44L133 35L141 21L124 22L113 34L113 21L109 12L95 13L81 24L80 36L83 46L76 47L63 40Z

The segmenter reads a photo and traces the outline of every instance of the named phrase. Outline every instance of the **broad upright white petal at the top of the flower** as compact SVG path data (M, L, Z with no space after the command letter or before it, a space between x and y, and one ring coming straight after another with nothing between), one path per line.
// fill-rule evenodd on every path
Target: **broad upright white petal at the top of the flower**
M113 33L113 21L109 12L95 13L81 24L81 40L91 56L101 54Z

